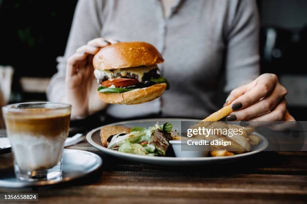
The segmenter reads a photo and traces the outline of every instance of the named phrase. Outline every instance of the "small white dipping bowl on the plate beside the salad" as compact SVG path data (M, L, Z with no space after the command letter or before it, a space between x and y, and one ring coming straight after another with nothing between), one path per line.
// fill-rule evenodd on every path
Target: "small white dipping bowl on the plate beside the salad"
M181 147L187 145L188 140L170 140L170 144L172 144L176 157L206 157L209 152L209 145L202 145L201 149L188 151L182 150ZM184 142L184 143L183 143Z

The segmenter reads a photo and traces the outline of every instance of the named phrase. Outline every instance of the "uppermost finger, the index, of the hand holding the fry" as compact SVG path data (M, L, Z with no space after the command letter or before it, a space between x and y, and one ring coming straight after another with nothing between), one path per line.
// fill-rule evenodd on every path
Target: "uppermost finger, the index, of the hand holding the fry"
M275 74L262 74L257 79L257 84L251 90L245 92L239 96L232 103L241 104L241 107L245 108L252 105L256 101L268 95L271 90L276 86L277 76Z

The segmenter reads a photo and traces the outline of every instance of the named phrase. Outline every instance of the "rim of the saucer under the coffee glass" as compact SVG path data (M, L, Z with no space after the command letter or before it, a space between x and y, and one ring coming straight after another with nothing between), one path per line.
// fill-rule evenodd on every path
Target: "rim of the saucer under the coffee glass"
M103 159L97 155L96 153L90 152L90 151L85 151L85 150L79 150L79 149L67 149L64 148L64 151L79 151L82 153L87 153L87 154L91 154L92 156L95 156L99 162L95 163L96 165L98 164L98 166L92 167L90 170L86 171L85 173L82 174L78 174L76 176L71 176L71 177L66 177L66 178L62 178L61 180L41 180L41 181L35 181L35 182L27 182L27 181L20 181L20 182L11 182L11 181L5 181L0 179L0 187L8 187L8 188L25 188L25 187L33 187L33 186L47 186L47 185L54 185L54 184L60 184L63 182L67 182L67 181L71 181L77 178L81 178L85 175L88 175L90 173L95 172L96 170L98 170L103 163ZM11 154L13 154L13 152L10 152ZM5 154L3 154L5 155Z

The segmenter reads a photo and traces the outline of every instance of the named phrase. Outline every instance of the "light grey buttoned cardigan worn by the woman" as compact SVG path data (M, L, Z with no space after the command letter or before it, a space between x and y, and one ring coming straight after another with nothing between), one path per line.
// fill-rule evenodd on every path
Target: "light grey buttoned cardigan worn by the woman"
M223 76L223 89L230 91L259 75L258 27L255 0L177 0L168 16L160 0L79 0L47 95L51 101L64 97L66 60L87 41L147 41L165 58L159 67L171 89L151 102L109 105L107 112L203 118L218 108Z

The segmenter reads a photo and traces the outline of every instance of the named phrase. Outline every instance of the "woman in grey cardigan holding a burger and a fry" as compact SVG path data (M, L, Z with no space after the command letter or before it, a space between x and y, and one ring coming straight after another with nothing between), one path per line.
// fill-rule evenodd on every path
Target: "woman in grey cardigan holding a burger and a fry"
M294 120L287 90L274 74L259 75L258 15L254 0L79 0L65 56L48 89L52 101L73 105L74 118L105 109L116 118L204 118L218 109L223 76L228 120ZM106 105L98 99L92 58L120 41L147 41L165 58L160 69L171 89L137 105Z

